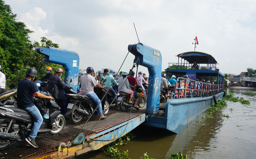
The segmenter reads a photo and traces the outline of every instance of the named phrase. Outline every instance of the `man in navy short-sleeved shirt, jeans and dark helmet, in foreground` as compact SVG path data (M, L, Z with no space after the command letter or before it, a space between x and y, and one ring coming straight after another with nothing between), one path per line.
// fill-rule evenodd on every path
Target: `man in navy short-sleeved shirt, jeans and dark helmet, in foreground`
M40 93L33 82L37 76L37 71L34 68L28 68L26 71L26 78L22 79L18 83L17 88L17 106L22 108L27 112L31 113L35 122L34 126L31 129L30 135L26 138L26 141L31 144L33 147L38 147L35 143L35 137L38 133L38 130L43 122L43 117L39 109L34 105L34 94L39 98L48 98L53 99L51 96L45 96Z

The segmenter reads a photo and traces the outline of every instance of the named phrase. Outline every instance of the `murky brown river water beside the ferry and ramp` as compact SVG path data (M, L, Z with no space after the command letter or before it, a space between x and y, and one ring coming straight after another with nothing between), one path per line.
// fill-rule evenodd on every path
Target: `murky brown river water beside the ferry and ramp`
M214 114L213 119L202 119L200 114L195 121L178 134L168 130L139 126L134 129L136 137L118 146L118 150L128 150L129 158L143 159L147 152L149 158L165 159L181 151L189 159L255 159L256 158L256 99L242 94L256 93L254 89L227 89L235 97L249 100L250 105L227 101L227 107ZM221 114L230 117L221 116ZM100 151L82 154L76 159L113 159ZM124 157L126 158L126 157Z

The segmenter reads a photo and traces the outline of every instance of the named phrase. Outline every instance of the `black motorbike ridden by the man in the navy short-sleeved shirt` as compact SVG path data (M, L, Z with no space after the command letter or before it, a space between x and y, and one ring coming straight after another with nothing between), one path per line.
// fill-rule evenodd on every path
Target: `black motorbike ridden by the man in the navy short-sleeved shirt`
M50 96L48 92L42 94ZM38 134L58 134L65 127L65 118L60 114L60 107L54 100L35 97L34 104L43 116ZM25 140L33 125L32 115L24 109L0 106L0 150L8 148L16 141Z

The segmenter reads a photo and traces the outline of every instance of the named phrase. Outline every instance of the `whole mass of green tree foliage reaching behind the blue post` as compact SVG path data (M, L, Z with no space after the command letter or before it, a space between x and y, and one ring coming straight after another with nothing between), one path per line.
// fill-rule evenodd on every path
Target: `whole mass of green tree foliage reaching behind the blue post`
M27 29L23 22L18 22L11 7L0 0L0 65L6 76L6 89L16 88L29 67L39 70L39 77L43 75L44 56L35 53L34 48L59 47L45 37L41 38L41 45L36 41L32 44L29 33L33 31ZM57 65L52 67L57 68Z

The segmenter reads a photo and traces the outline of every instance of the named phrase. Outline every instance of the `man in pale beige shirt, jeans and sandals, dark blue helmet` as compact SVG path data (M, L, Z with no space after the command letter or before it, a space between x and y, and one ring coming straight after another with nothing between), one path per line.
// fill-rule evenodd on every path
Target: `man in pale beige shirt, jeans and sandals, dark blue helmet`
M94 86L97 86L99 88L105 88L105 86L100 85L95 78L92 76L94 73L94 69L92 67L87 67L86 74L81 77L81 94L86 94L89 98L91 98L96 105L99 105L97 107L97 114L100 118L107 118L107 115L103 115L102 113L102 106L100 103L99 97L96 95L96 93L93 92Z

